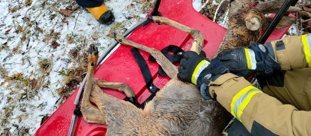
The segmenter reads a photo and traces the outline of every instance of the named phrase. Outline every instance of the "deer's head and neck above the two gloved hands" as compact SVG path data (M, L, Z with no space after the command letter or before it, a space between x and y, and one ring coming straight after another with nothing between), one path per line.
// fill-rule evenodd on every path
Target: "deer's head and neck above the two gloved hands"
M254 4L249 0L230 0L228 29L220 44L217 53L209 59L214 59L225 49L247 47L255 43L261 36L262 28L272 22L271 17L265 17L267 13L276 13L285 0L271 0L260 4ZM289 7L287 12L299 12L299 7ZM276 29L285 28L296 22L296 17L283 16Z

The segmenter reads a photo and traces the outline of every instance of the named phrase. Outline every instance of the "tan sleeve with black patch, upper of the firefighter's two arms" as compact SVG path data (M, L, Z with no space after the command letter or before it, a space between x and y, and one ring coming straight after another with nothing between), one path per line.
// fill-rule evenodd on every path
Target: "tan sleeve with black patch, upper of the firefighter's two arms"
M281 70L311 68L311 34L290 36L266 43L269 53Z

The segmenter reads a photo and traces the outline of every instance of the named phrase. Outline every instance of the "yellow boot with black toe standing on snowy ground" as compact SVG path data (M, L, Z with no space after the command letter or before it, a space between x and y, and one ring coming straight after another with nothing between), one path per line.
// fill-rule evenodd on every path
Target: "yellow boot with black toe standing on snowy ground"
M99 7L86 7L86 10L101 24L109 25L114 22L114 14L104 4Z

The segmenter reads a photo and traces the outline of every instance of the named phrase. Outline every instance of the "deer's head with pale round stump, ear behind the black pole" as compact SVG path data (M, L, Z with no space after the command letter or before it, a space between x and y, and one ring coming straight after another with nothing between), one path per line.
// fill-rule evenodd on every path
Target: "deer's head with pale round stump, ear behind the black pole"
M265 17L267 13L276 13L285 0L271 0L260 4L255 4L253 0L230 0L229 21L230 19L241 19L249 30L261 30L267 27L272 18ZM290 7L287 12L301 11L299 7ZM285 16L281 19L276 29L287 27L295 22L295 17Z

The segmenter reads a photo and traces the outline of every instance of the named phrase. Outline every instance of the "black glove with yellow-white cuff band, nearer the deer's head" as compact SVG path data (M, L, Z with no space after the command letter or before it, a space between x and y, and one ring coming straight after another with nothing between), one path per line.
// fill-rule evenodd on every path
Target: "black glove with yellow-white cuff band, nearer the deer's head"
M251 75L268 76L280 69L280 64L269 54L267 47L253 43L249 48L228 49L220 52L218 57L231 73L245 79Z

